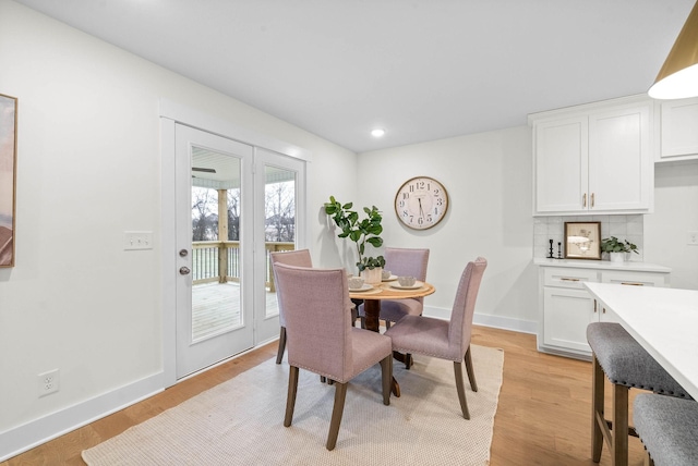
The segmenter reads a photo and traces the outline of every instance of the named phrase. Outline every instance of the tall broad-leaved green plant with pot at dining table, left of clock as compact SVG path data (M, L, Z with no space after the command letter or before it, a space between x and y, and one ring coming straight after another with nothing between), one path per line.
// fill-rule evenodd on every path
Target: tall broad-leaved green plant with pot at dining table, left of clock
M359 220L359 212L351 209L353 203L341 204L334 196L329 196L329 203L325 203L324 206L325 213L330 216L335 224L341 230L337 236L347 237L357 244L357 253L359 255L357 268L364 281L366 283L380 283L385 259L383 256L364 256L366 243L373 247L383 246L383 238L381 238L383 217L378 208L375 206L371 209L364 207L363 212L366 217ZM377 280L375 275L377 275Z

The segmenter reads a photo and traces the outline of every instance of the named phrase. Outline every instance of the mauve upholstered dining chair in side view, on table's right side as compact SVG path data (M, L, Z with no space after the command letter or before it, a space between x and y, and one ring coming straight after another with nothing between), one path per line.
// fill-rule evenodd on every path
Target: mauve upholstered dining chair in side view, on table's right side
M470 413L466 400L461 361L465 359L470 388L477 392L478 383L470 355L470 335L476 299L486 267L488 261L482 257L468 262L460 275L450 320L405 316L385 332L385 335L393 341L394 351L423 354L454 361L456 390L460 401L460 409L466 419L470 419ZM404 389L409 390L405 387Z

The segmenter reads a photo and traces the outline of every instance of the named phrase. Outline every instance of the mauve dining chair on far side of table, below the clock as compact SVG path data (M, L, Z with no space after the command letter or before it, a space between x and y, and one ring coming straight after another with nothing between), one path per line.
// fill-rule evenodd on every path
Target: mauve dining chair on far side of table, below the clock
M426 280L426 266L429 265L429 249L410 249L400 247L385 248L385 269L394 275L410 275L423 282ZM397 322L405 316L421 316L424 308L423 297L411 297L406 299L383 299L381 301L381 319L385 320L386 327L390 322ZM359 306L359 317L365 317L363 305Z

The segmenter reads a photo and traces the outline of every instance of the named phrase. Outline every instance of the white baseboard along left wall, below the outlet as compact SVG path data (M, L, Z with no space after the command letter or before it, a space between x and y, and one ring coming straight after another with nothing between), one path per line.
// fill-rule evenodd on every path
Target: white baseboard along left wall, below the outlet
M0 432L0 462L121 410L163 390L160 372Z

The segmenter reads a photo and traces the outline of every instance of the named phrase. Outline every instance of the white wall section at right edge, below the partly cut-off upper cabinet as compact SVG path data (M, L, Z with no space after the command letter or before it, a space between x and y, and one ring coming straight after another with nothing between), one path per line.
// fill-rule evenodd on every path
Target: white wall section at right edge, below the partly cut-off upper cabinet
M645 261L672 268L672 287L698 290L698 160L654 164L654 213L645 216Z

